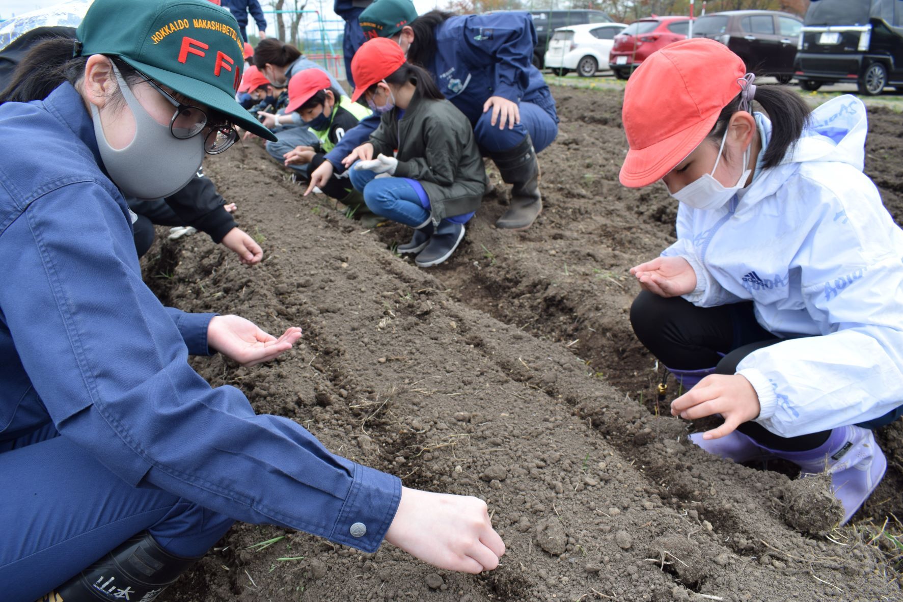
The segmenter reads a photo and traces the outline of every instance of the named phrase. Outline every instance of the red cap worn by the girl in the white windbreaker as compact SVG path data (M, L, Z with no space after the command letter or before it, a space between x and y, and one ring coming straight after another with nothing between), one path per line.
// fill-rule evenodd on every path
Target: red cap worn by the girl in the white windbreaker
M684 161L740 94L745 74L743 60L714 40L691 38L653 52L624 90L621 121L630 150L621 184L647 186Z

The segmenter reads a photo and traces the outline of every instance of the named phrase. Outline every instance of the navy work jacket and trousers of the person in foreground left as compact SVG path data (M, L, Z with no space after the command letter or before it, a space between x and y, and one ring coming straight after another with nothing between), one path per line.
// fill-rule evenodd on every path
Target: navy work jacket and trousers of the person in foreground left
M35 599L145 529L181 556L233 520L375 551L400 481L191 369L213 314L144 285L75 88L0 106L0 139L16 149L0 162L4 599Z

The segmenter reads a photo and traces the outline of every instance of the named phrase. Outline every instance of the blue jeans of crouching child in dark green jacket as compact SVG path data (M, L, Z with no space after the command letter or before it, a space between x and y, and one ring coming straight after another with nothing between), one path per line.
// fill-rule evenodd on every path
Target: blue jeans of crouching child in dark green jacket
M355 162L357 165L357 162ZM349 168L349 178L355 190L363 193L368 208L384 218L389 218L405 226L418 227L430 218L430 199L420 182L409 178L379 178L369 170ZM447 219L456 224L464 224L473 217L473 212Z

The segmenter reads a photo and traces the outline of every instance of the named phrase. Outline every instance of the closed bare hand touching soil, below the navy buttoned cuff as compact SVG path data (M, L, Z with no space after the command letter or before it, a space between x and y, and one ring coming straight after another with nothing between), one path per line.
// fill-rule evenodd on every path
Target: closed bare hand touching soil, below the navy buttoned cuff
M486 503L470 495L402 487L386 542L446 570L479 573L498 567L505 542L489 521Z

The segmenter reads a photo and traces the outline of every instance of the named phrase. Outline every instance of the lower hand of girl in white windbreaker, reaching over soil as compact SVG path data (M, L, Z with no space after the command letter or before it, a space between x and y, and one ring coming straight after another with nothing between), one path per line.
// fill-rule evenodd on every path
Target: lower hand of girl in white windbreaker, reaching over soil
M671 415L686 420L721 414L724 423L705 431L706 440L731 434L743 422L755 419L760 410L759 394L742 375L708 375L671 402Z

